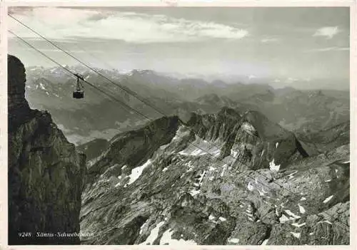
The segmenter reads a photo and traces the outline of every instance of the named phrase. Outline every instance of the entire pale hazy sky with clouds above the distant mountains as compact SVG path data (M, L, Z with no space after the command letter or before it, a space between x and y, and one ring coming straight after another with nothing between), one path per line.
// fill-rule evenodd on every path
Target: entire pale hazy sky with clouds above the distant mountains
M243 75L248 80L286 83L328 79L348 88L348 8L17 8L9 12L91 66L222 79ZM11 18L9 29L59 63L76 64ZM53 66L17 38L9 38L9 53L26 66Z

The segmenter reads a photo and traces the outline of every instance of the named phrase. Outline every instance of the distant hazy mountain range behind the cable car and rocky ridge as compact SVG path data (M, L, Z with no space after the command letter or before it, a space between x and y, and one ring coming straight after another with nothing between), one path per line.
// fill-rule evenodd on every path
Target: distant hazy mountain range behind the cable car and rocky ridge
M317 132L349 120L348 91L274 89L267 84L178 79L148 70L121 73L96 69L114 84L84 67L66 67L81 73L89 83L150 119L164 114L188 120L192 112L215 113L229 107L239 112L259 111L269 120L296 132ZM109 140L116 133L141 127L147 121L86 83L86 98L74 100L71 93L76 79L59 67L29 67L26 68L26 78L26 98L31 107L49 110L65 135L77 145L95 138ZM129 97L121 88L134 91L141 100L159 108L160 112L135 97Z

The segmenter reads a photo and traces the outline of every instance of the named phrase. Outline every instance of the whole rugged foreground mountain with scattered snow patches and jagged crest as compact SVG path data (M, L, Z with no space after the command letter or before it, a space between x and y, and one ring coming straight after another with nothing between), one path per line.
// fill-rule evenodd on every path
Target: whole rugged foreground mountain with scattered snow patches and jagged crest
M348 157L349 144L308 156L255 112L161 118L91 163L81 230L95 236L81 243L349 244Z

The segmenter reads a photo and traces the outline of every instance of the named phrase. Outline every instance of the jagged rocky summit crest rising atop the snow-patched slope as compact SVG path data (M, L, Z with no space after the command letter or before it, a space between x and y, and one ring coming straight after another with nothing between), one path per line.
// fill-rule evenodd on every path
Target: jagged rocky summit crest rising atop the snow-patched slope
M188 126L204 140L221 142L220 158L233 158L233 169L284 168L308 156L292 132L257 111L239 115L231 108L222 108L217 114L193 114Z

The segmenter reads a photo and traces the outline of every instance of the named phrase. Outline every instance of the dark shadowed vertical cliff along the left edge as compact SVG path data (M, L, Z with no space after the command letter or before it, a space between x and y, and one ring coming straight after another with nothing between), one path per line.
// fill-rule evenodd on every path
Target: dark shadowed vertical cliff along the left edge
M24 66L14 56L8 61L9 244L79 244L85 155L49 113L29 108Z

